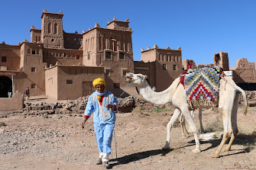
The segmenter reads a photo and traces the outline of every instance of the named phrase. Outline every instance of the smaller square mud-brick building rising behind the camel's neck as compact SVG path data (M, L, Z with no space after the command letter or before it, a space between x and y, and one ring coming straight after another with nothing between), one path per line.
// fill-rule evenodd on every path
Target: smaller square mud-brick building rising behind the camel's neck
M134 62L134 72L147 75L151 88L156 86L157 91L168 88L182 70L180 47L177 50L170 47L160 49L157 45L152 49L147 47L146 50L141 49L141 62Z

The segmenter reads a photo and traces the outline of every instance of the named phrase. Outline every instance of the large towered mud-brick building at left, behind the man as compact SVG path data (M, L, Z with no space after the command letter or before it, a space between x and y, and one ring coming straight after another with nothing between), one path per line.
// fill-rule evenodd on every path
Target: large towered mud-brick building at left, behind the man
M21 92L28 86L32 96L76 99L95 91L92 81L98 77L115 95L122 93L126 72L134 72L128 19L70 34L63 30L62 11L44 9L41 18L41 29L31 27L31 43L0 44L0 97L7 97L10 86Z

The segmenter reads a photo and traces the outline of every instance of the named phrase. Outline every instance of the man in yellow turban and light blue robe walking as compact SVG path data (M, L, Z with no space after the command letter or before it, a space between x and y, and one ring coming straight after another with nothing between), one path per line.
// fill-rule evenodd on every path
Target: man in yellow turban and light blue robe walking
M95 79L92 85L96 88L96 91L89 96L82 128L84 128L86 120L93 112L93 126L99 149L99 159L96 164L103 164L105 168L109 168L112 133L115 127L115 112L118 108L118 101L112 92L105 90L104 79Z

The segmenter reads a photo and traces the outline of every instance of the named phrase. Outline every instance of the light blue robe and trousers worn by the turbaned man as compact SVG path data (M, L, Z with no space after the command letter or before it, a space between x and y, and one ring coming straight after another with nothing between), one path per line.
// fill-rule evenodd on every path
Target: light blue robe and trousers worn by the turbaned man
M85 115L91 116L93 112L93 126L96 134L99 152L109 153L112 151L112 133L115 127L115 111L118 108L118 100L110 91L104 91L105 95L100 105L96 98L96 92L90 95L86 105ZM115 104L116 110L105 107L107 104Z

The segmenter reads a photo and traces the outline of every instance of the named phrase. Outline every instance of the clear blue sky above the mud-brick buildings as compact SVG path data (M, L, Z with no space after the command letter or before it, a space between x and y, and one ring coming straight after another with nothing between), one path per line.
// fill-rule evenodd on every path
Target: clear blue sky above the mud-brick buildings
M44 3L43 3L44 2ZM236 59L256 62L256 1L14 1L0 3L0 42L15 45L30 40L31 25L41 29L41 14L63 11L63 30L79 34L99 23L107 27L115 17L130 21L134 60L141 48L181 47L183 59L213 63L213 53L227 52L229 66Z

